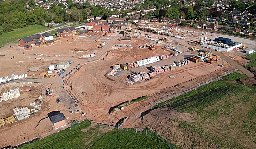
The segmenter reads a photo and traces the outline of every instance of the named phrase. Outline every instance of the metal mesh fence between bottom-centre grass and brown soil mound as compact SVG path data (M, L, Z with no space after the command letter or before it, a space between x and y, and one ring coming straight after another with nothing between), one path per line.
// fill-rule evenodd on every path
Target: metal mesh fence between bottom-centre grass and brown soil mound
M164 144L166 144L168 146L168 148L176 149L175 146L173 146L168 141L166 141L157 132L153 132L153 131L145 130L145 129L140 129L140 128L133 128L132 126L128 126L128 125L119 125L118 123L106 123L106 122L99 123L99 122L95 122L95 121L91 121L91 120L90 120L90 122L91 122L92 126L116 128L116 129L126 130L126 131L129 131L129 132L135 132L135 133L145 134L145 135L149 135L149 136L156 136L159 140L163 141Z

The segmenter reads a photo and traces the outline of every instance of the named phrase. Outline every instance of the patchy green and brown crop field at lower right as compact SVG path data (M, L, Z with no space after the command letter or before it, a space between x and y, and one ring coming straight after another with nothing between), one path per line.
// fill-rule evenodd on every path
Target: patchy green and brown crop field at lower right
M239 78L237 76L238 74L231 74L227 78L237 79ZM194 122L170 119L170 122L179 123L177 129L188 130L195 135L200 135L211 144L219 146L219 148L253 149L256 148L255 97L256 86L215 81L191 93L168 101L167 104L161 107L176 108L181 113L195 115ZM164 131L161 135L173 135L173 132L165 133ZM184 133L184 135L186 134ZM184 140L182 144L195 143L193 137L188 136L188 138L190 140ZM193 143L191 143L191 140ZM194 141L198 142L198 140ZM197 144L197 146L200 145ZM185 146L185 148L193 147L192 145Z

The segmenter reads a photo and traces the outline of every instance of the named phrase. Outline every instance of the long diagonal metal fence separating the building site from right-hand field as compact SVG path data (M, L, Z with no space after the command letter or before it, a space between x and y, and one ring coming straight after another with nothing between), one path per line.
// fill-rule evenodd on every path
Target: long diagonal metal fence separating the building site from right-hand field
M173 98L179 97L183 94L187 94L187 93L189 93L193 90L196 90L202 86L208 85L211 82L219 81L220 79L222 79L226 75L233 73L234 71L237 72L238 68L231 68L231 69L223 72L222 74L218 74L218 75L215 75L214 77L211 77L210 79L196 83L195 85L192 85L189 87L185 87L185 88L183 88L179 91L175 91L173 93L167 93L167 94L163 95L162 97L152 99L151 101L149 101L149 100L141 101L140 106L136 107L136 105L135 105L133 109L136 109L136 110L132 114L130 114L127 118L125 118L123 121L118 123L118 126L124 125L125 123L127 123L127 125L133 126L133 124L137 121L137 119L139 119L141 117L141 114L143 112L146 112L147 110L152 109L154 106L157 106L160 103L166 102Z

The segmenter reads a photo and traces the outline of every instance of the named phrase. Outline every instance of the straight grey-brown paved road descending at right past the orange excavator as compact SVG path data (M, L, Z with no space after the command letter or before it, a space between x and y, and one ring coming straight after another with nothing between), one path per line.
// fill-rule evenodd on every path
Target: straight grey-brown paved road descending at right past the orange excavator
M241 66L240 64L235 62L233 59L231 59L228 56L222 54L222 52L215 51L214 53L218 54L223 60L225 60L231 66L238 68L240 71L242 71L248 77L254 77L254 74L252 74L252 72L250 72L249 70L247 70L246 68L244 68L243 66Z

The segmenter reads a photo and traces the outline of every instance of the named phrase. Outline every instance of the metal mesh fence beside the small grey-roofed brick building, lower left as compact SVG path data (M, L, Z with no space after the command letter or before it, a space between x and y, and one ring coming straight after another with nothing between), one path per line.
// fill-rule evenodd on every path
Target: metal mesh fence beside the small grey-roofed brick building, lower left
M25 136L19 136L17 137L17 140L14 142L7 142L7 144L2 144L0 148L4 148L5 146L12 146L6 149L19 149L19 146L22 146L24 144L32 143L35 140L41 140L42 138L45 138L47 136L52 136L54 133L62 132L63 130L70 129L72 131L65 131L65 134L74 132L75 130L80 128L80 123L88 121L86 117L80 118L79 120L74 120L70 124L67 124L63 127L54 129L53 127L46 127L44 131L37 132L34 134L27 134L25 133ZM63 134L63 135L65 135Z

